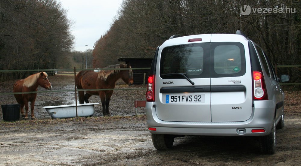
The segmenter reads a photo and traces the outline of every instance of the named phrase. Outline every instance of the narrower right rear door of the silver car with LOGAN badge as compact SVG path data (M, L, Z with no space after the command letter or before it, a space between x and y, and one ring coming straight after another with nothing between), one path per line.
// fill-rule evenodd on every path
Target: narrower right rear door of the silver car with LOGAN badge
M247 41L245 44L211 44L212 122L241 122L249 119L252 114L252 74L250 58L246 58L246 55L250 57L246 48Z

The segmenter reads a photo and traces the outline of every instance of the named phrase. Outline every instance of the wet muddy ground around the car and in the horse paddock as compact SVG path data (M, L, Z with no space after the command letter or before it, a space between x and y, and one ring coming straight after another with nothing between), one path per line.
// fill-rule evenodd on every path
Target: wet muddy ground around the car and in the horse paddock
M74 89L73 77L51 76L52 90ZM12 92L14 81L0 83L0 93ZM116 88L143 88L121 82ZM40 89L42 91L44 89ZM179 137L171 150L157 151L146 127L144 108L135 116L134 101L144 90L114 91L113 117L103 117L100 105L92 117L51 119L44 106L75 103L74 92L39 93L36 120L4 122L0 110L0 165L300 165L301 97L285 88L285 128L277 130L277 152L262 155L256 137ZM100 102L92 96L90 102ZM16 104L0 95L0 104Z

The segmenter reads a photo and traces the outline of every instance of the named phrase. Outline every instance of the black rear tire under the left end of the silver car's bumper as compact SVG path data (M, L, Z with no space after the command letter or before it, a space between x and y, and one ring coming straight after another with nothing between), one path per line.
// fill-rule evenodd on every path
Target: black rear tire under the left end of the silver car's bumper
M168 150L172 147L175 137L168 134L151 134L151 139L157 150Z

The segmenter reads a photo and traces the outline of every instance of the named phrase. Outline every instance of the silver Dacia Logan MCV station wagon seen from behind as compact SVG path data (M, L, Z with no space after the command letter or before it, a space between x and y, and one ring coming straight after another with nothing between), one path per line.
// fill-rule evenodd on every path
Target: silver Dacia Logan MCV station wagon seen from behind
M265 52L242 32L172 36L157 47L146 92L154 147L186 135L258 136L274 154L284 92Z

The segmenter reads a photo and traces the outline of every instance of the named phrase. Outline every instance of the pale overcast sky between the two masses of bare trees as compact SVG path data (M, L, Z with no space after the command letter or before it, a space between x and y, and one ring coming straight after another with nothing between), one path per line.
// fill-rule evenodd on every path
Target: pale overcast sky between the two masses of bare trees
M74 50L93 49L95 42L110 29L122 0L59 0L67 16L75 23L71 32L75 36Z

